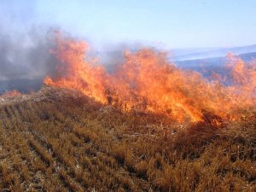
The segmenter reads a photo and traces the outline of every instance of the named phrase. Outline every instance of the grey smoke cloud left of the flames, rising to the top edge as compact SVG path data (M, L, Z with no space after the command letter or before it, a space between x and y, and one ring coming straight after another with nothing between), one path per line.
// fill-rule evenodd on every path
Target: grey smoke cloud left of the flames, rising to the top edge
M55 25L40 20L37 3L31 0L3 0L0 18L0 93L39 89L58 63L49 53L54 46L49 26Z

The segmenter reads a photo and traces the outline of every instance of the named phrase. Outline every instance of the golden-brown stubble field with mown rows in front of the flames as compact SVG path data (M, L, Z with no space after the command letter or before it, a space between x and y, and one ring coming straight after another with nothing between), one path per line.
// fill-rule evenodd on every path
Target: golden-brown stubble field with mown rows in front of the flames
M255 138L255 118L179 125L72 94L0 102L0 191L256 191Z

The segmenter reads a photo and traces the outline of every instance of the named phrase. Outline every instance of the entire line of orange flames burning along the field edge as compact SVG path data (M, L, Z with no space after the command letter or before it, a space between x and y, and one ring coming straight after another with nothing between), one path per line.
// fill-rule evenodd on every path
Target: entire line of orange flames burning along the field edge
M125 63L109 74L96 61L86 58L88 45L71 38L55 38L53 51L61 61L57 77L44 83L80 90L123 110L166 113L177 121L239 119L255 108L256 65L233 55L226 69L229 77L215 79L182 70L166 59L166 53L141 49L125 53Z

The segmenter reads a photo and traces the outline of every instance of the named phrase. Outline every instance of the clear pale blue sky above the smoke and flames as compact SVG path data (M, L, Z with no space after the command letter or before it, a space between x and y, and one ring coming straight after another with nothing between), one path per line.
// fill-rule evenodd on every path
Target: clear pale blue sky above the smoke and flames
M58 26L104 44L165 49L256 44L255 0L2 0L3 30Z

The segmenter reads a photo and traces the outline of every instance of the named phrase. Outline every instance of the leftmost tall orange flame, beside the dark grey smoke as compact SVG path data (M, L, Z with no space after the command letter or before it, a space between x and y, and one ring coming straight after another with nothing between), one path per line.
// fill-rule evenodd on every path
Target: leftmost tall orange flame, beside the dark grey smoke
M80 90L84 95L94 97L96 101L106 103L104 90L108 74L96 63L84 61L88 45L73 40L55 39L57 46L52 52L62 62L57 68L59 78L55 81L47 77L45 84Z

